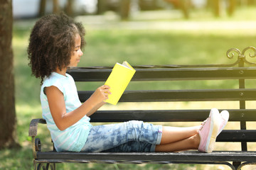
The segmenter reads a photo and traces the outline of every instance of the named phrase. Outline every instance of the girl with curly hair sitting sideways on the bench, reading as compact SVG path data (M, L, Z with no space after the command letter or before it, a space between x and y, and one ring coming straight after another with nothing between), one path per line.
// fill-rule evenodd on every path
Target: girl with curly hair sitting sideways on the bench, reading
M228 111L216 108L195 127L175 128L129 121L92 126L90 115L105 104L110 86L100 86L80 103L73 78L66 74L76 67L85 46L81 23L60 15L36 22L28 45L32 74L41 78L43 118L58 152L178 152L198 149L212 152L215 138L228 121Z

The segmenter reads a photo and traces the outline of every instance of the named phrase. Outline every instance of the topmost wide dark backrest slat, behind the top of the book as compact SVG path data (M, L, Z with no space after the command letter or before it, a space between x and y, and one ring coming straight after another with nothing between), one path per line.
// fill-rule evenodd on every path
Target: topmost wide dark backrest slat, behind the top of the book
M256 67L136 69L132 81L256 79ZM111 69L70 69L75 81L106 81Z

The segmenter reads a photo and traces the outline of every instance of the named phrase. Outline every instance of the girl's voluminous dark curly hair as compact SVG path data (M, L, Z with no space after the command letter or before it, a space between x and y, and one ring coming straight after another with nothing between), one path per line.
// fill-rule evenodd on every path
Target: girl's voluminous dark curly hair
M29 38L28 65L32 74L41 78L41 84L57 68L68 67L76 34L80 35L80 47L83 49L85 28L64 13L43 16L36 22Z

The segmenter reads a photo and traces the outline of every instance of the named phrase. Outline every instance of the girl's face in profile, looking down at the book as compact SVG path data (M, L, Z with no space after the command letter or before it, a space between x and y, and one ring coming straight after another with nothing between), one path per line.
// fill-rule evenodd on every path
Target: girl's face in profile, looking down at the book
M78 62L80 62L80 57L82 56L82 51L80 49L81 46L81 38L79 34L75 35L75 48L74 51L71 52L70 64L69 67L77 67Z

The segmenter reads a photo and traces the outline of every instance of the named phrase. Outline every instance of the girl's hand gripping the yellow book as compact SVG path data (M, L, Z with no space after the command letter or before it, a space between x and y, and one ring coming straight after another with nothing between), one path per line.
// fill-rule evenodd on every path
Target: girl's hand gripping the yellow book
M109 94L111 94L110 86L103 85L96 89L96 91L92 94L91 98L93 98L95 102L101 103L102 101L108 99Z

